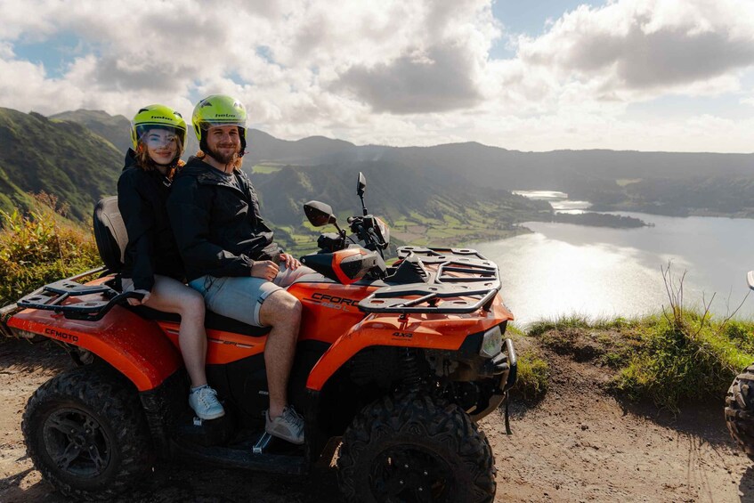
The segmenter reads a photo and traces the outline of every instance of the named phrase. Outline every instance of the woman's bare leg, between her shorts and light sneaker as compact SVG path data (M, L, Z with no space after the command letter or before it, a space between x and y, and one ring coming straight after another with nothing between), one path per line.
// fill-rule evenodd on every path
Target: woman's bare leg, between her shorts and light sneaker
M145 304L158 311L181 315L178 345L191 378L191 387L207 384L207 332L204 329L204 297L193 288L167 276L155 275L155 285Z

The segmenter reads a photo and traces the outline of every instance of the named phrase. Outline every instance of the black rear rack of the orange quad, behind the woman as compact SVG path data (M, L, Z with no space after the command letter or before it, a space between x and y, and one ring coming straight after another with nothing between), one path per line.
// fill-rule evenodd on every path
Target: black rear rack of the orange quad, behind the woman
M70 320L97 321L109 312L115 304L120 304L127 298L142 298L142 294L125 292L119 294L107 285L82 285L74 280L81 279L103 268L93 269L66 280L55 281L24 296L16 304L25 309L41 309L62 313ZM101 294L107 300L84 300L80 296ZM76 300L63 305L66 300Z

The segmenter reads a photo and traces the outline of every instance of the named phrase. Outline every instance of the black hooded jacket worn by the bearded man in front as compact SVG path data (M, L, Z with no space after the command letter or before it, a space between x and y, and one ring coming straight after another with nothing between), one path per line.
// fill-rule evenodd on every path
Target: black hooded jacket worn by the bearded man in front
M241 171L224 174L190 158L174 179L167 212L189 281L206 274L249 276L254 260L270 258L272 231Z

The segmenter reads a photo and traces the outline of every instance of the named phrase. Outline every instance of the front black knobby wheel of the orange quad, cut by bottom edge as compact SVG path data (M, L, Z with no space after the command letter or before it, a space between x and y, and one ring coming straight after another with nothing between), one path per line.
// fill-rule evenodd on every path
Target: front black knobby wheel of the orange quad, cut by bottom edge
M347 501L495 498L487 437L457 405L428 396L388 396L361 410L345 431L337 465Z

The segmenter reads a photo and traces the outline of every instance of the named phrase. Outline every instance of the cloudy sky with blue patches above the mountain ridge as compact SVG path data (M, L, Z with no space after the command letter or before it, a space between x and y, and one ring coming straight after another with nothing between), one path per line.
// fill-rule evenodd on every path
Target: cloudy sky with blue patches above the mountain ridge
M231 93L292 140L754 150L750 0L102 5L0 2L0 106L191 115Z

